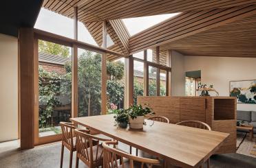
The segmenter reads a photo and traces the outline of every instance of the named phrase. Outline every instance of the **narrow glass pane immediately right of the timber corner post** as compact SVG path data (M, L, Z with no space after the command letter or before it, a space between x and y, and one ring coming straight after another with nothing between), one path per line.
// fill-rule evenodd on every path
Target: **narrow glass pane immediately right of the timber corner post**
M144 62L134 60L134 104L144 94Z

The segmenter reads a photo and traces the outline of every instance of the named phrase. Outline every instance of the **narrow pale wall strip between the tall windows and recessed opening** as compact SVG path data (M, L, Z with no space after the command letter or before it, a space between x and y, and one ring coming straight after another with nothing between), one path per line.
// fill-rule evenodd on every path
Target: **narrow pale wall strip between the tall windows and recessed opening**
M171 51L171 95L185 95L184 56L177 51Z

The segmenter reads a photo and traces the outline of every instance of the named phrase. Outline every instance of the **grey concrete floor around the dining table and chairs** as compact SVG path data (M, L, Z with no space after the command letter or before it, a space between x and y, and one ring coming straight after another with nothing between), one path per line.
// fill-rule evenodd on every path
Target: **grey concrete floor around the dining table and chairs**
M122 149L129 150L122 145ZM0 168L55 168L60 167L61 143L54 143L35 147L34 149L19 151L19 141L0 143ZM65 150L63 168L69 165L69 153ZM75 167L75 154L73 156ZM79 167L86 167L80 162ZM211 158L213 168L256 168L256 158L241 154L221 154Z

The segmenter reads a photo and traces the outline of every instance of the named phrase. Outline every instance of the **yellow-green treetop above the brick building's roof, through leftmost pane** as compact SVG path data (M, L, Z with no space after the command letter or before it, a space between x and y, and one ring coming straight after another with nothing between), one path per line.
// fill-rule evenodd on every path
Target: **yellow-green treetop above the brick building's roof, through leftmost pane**
M58 45L44 40L39 40L39 52L68 57L70 49L64 45Z

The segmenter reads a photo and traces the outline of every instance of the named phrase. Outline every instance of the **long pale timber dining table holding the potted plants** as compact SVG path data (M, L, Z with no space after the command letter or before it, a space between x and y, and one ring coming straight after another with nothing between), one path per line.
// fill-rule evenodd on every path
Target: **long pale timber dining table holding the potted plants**
M118 128L114 115L78 117L70 120L180 167L200 167L229 136L223 132L147 119L143 130Z

